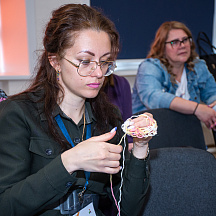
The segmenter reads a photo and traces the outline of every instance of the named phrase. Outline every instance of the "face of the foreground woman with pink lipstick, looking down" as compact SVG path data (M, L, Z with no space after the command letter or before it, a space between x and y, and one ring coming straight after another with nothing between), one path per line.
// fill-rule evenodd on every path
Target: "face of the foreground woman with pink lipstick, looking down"
M106 32L83 30L76 36L74 45L66 50L64 57L79 65L82 60L106 61L110 55L111 42ZM100 66L97 66L91 75L83 77L77 73L77 68L64 58L59 64L59 83L64 88L65 97L85 99L97 96L104 82Z

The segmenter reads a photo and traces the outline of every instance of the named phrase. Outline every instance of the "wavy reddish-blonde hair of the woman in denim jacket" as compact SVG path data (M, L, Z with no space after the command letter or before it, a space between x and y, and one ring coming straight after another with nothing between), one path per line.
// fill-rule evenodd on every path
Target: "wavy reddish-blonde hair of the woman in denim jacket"
M172 29L182 29L188 35L188 37L192 38L191 31L184 23L178 21L164 22L156 32L155 39L151 45L151 49L147 55L147 58L158 58L161 63L167 68L168 73L171 74L171 80L174 80L175 75L172 73L172 65L164 56L165 42L168 38L170 30ZM192 40L191 54L186 62L187 68L191 71L194 71L194 60L197 56L198 54L195 51L195 43Z

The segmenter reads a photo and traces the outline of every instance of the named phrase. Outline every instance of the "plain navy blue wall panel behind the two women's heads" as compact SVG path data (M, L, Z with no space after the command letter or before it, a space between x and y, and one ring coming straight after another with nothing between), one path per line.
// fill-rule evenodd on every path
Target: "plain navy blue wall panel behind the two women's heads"
M145 58L155 32L164 21L185 23L197 39L204 31L212 40L214 0L91 0L116 25L120 34L119 59Z

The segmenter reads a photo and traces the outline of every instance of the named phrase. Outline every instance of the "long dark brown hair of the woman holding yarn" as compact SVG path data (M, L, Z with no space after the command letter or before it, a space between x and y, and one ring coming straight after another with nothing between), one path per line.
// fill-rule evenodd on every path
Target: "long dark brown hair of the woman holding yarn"
M117 58L119 34L112 21L106 18L99 10L87 5L63 5L53 11L52 18L47 24L43 39L44 51L39 60L37 74L30 87L24 91L24 93L44 92L39 101L44 102L44 113L48 120L49 132L60 143L63 150L68 148L68 143L66 140L62 140L58 134L54 126L52 112L56 103L62 102L64 91L57 81L56 71L50 64L49 56L55 55L61 59L64 56L64 51L75 43L76 35L86 29L106 32L111 42L111 58L113 60ZM59 99L58 95L62 95L62 97ZM88 99L88 101L90 101L93 113L98 120L96 127L99 131L104 132L107 124L113 127L117 125L119 118L116 108L108 102L102 90L99 91L96 98Z

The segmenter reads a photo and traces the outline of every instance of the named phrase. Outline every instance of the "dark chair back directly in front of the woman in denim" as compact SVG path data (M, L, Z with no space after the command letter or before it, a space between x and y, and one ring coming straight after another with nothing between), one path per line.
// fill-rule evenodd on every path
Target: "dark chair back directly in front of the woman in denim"
M206 150L202 126L195 115L186 115L166 108L143 112L153 114L158 124L157 135L149 142L150 149L191 146Z

